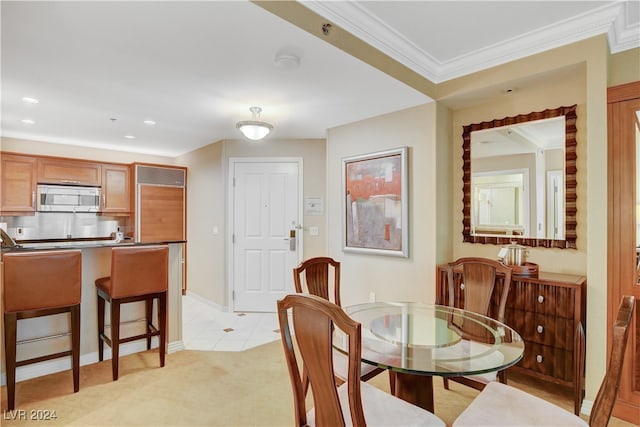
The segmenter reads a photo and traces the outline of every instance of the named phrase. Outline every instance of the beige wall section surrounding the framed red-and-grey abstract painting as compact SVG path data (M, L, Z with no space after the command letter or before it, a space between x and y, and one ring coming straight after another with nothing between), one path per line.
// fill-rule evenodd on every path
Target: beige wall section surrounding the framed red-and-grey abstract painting
M407 146L409 257L342 251L342 158ZM433 302L436 265L436 104L330 129L327 138L329 255L342 262L343 305L369 300Z

